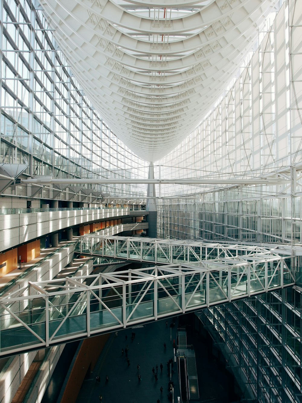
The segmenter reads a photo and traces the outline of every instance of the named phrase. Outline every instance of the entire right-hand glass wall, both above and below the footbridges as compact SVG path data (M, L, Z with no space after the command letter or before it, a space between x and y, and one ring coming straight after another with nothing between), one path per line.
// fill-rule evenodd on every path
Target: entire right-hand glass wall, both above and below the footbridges
M273 17L273 16L272 16ZM284 1L259 30L224 95L182 144L158 161L162 178L229 179L230 185L161 185L158 237L242 243L302 243L302 3ZM287 179L282 185L232 185L232 179ZM176 195L176 196L175 196ZM299 254L299 252L298 252ZM242 387L242 401L302 399L301 260L296 287L200 311ZM240 370L238 372L238 369Z

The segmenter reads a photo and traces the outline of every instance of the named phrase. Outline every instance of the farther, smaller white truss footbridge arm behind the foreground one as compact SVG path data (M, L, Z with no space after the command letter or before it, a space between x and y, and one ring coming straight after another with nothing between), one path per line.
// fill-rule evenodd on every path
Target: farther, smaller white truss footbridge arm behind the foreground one
M156 238L100 236L79 237L74 251L85 256L103 256L154 264L204 264L208 260L223 264L236 264L246 259L257 262L275 258L278 249L259 245L223 244L199 240L173 240ZM290 256L290 249L283 250Z

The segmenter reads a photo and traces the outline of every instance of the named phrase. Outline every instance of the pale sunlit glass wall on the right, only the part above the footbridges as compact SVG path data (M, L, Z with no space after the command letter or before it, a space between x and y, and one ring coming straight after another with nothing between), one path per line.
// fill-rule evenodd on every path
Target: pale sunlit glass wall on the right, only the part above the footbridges
M161 185L159 237L302 243L301 28L301 2L285 1L259 30L258 48L224 96L155 163L161 178L230 181ZM232 185L257 178L287 182Z

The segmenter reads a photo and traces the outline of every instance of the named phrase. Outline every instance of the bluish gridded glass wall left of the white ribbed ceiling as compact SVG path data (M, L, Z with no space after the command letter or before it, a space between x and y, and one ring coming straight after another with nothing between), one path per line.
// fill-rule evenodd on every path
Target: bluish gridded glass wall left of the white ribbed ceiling
M0 163L56 178L145 178L134 155L102 120L56 46L38 2L0 0ZM137 195L141 185L94 186Z

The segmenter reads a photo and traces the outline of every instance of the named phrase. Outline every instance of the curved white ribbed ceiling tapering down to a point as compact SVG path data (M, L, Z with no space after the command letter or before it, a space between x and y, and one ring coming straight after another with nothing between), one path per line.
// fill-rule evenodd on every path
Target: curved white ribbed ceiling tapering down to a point
M147 161L198 125L277 0L40 0L86 95Z

